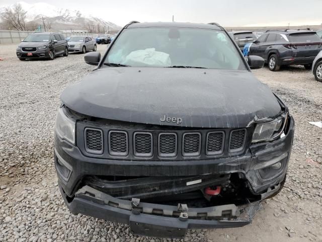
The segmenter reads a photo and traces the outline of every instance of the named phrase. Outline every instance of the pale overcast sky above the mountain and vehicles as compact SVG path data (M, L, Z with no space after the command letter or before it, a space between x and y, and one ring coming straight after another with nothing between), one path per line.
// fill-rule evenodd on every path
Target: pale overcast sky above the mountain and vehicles
M123 26L140 22L172 21L209 23L222 26L286 26L322 23L322 0L24 0L44 2L59 8L79 10ZM0 6L13 4L0 0Z

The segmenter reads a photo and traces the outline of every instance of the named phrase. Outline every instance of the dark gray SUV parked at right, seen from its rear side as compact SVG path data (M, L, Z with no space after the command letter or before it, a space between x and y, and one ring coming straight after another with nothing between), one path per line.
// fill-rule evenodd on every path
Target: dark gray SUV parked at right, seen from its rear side
M265 59L271 71L285 65L303 65L310 70L322 41L314 31L302 29L268 30L250 47L250 55Z

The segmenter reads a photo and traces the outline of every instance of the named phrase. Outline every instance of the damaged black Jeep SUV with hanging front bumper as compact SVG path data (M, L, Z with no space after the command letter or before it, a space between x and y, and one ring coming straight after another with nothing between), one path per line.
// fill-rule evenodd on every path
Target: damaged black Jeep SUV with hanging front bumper
M85 61L98 68L62 92L54 137L72 213L183 237L249 224L282 189L294 120L218 24L131 22Z

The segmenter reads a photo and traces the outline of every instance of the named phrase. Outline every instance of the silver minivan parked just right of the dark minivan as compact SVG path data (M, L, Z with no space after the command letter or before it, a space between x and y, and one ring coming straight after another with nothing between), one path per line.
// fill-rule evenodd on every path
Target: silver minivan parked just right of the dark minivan
M72 36L68 40L69 52L83 52L86 53L89 50L96 51L96 41L91 37L85 36Z

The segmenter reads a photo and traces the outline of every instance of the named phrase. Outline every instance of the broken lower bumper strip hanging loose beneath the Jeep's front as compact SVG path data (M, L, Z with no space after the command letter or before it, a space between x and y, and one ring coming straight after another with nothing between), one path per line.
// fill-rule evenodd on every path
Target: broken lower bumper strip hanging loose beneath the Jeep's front
M168 238L182 238L187 229L245 226L261 208L259 202L247 206L228 204L207 208L140 203L116 199L89 186L78 190L69 203L61 192L74 214L129 224L135 234Z

